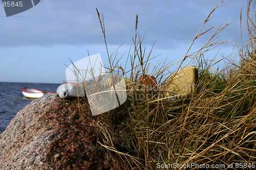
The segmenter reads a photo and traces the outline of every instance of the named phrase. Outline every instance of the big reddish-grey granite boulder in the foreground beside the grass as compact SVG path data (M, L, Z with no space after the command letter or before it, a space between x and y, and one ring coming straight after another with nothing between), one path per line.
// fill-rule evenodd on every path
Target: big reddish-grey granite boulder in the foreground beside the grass
M57 93L33 100L0 135L0 169L131 169L125 164L97 145L77 99Z

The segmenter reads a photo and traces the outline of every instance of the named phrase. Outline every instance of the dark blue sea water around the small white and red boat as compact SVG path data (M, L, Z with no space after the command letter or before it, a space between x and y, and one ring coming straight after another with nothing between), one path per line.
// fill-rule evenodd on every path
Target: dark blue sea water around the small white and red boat
M25 98L23 87L31 87L42 91L56 92L60 84L48 83L9 83L0 82L0 134L5 131L11 119L33 99Z

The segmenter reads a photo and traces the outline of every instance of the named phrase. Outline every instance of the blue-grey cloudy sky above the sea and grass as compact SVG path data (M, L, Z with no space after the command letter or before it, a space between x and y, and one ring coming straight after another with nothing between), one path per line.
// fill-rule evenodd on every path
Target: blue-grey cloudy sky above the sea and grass
M105 38L110 54L116 49L119 64L124 67L133 55L135 21L138 14L142 47L150 62L181 60L197 35L210 11L221 1L206 0L129 0L129 1L67 1L42 0L33 8L6 17L0 6L0 82L59 83L66 80L65 70L71 61L100 53L108 66L108 54L96 8L104 18ZM210 16L202 32L216 25L225 26L215 40L230 43L205 53L205 58L221 60L223 56L236 58L241 48L240 12L242 9L243 43L248 40L246 29L247 1L226 0ZM188 54L198 51L217 28L196 39ZM236 44L233 44L236 43ZM71 61L70 61L71 60ZM184 63L188 63L189 59ZM188 65L196 65L191 61ZM172 72L178 64L169 67ZM129 67L125 68L125 71Z

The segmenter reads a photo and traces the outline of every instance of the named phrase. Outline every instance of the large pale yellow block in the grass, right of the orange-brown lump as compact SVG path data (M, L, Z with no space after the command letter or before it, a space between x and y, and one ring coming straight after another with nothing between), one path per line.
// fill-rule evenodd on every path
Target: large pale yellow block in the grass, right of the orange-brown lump
M198 71L195 66L191 65L182 68L174 76L170 76L163 87L167 96L173 93L189 95L196 91L197 83Z

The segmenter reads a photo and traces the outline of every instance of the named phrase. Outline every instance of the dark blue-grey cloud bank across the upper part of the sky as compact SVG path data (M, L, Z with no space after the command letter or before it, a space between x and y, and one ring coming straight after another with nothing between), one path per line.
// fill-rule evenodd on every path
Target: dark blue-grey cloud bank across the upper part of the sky
M103 13L108 44L132 44L135 18L139 16L138 32L146 31L145 43L175 47L191 42L212 8L221 1L41 1L23 13L3 17L0 8L0 46L50 46L54 44L98 44L103 35L96 13ZM222 41L236 42L240 32L240 10L246 1L226 0L212 14L204 30L233 22L223 31ZM20 16L20 17L18 17ZM246 19L246 15L244 14ZM244 20L245 20L244 19ZM209 37L209 36L208 36ZM201 41L206 41L202 37Z

